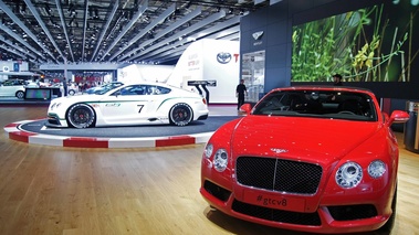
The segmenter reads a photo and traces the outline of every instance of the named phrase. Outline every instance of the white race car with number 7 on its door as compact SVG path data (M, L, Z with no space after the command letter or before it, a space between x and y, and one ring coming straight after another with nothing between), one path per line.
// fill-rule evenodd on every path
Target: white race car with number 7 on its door
M208 117L199 94L165 84L129 84L95 95L51 100L49 127L99 127L146 124L186 126Z

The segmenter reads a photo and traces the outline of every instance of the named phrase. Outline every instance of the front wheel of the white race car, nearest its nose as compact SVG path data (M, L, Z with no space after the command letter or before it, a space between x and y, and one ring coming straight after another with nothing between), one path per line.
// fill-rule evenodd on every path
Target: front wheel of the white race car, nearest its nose
M87 128L94 126L96 116L93 108L86 104L75 104L67 111L69 126Z

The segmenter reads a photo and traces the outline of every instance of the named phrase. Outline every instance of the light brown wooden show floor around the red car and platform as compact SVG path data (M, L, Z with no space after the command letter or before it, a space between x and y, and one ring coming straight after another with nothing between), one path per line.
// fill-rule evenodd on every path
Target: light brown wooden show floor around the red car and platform
M45 110L46 107L1 107L0 125L44 118ZM229 108L226 111L235 113ZM407 151L402 135L397 136L399 193L391 235L417 235L419 154ZM3 132L0 136L0 232L311 235L261 226L211 211L199 193L203 146L62 148L14 141Z

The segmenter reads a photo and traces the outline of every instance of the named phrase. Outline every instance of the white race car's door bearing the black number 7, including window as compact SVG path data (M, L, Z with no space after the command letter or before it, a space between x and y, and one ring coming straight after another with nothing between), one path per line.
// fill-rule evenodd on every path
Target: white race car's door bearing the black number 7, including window
M147 108L150 99L146 93L147 85L129 85L115 89L99 103L106 124L143 124L149 115Z

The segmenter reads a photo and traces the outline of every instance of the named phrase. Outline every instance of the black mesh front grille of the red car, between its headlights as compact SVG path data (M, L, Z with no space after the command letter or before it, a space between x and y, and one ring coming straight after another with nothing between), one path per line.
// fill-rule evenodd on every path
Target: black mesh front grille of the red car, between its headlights
M240 157L235 162L240 184L270 191L314 194L322 179L317 164L274 158Z

